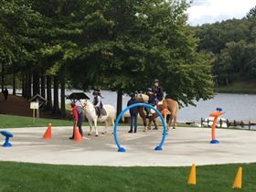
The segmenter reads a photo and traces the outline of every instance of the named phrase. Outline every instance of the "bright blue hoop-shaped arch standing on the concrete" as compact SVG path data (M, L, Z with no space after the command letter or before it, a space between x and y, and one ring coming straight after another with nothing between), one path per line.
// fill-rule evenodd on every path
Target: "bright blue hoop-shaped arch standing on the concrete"
M121 146L121 144L119 143L118 141L118 138L117 138L117 127L118 127L118 123L120 122L120 119L123 117L123 114L125 112L127 112L128 110L132 109L133 107L146 107L146 108L150 108L152 110L154 110L160 117L162 123L163 123L163 127L164 127L164 133L163 133L163 136L162 136L162 140L161 140L161 143L155 147L155 150L156 151L161 151L163 150L163 144L165 143L165 136L167 134L167 129L166 129L166 123L165 123L165 119L163 117L163 115L161 114L161 112L159 112L157 109L155 109L155 107L153 107L152 105L149 105L149 104L145 104L145 103L135 103L135 104L132 104L130 105L129 107L126 107L123 112L121 112L115 123L114 123L114 128L113 128L113 135L114 135L114 141L115 141L115 144L117 145L118 147L118 152L126 152L126 150Z

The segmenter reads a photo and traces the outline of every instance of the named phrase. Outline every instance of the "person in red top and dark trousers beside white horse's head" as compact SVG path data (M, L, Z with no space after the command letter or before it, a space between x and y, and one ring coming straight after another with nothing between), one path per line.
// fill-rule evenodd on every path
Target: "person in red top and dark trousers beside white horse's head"
M82 123L83 123L83 109L80 106L77 106L75 102L71 102L71 107L72 107L72 114L74 115L74 124L73 124L73 135L71 137L69 137L69 139L74 139L74 131L75 128L78 126L79 130L80 130L80 135L83 135L82 132Z

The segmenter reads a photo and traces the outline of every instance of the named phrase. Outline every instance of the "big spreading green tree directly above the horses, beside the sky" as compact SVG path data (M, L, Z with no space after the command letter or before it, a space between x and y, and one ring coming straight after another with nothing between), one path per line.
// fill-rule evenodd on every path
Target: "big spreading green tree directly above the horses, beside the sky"
M185 104L210 98L212 59L197 53L186 9L185 1L93 4L85 30L104 35L92 37L70 66L76 82L80 80L84 89L91 84L117 91L118 112L123 93L144 91L155 78L169 96ZM87 69L89 80L82 69Z

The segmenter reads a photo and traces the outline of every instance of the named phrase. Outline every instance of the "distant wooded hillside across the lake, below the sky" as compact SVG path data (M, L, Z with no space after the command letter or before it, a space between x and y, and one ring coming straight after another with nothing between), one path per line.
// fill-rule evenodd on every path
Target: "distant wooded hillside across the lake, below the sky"
M217 85L256 80L256 6L242 19L196 27L198 50L214 58Z

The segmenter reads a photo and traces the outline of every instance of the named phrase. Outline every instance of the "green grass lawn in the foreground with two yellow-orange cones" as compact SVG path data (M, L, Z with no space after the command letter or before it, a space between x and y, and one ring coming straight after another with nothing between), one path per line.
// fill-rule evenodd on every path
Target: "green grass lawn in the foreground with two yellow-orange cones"
M240 165L197 166L197 186L187 186L190 167L101 167L0 162L0 191L231 192L256 191L256 164L242 165L243 187L232 189Z

